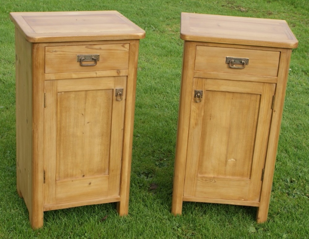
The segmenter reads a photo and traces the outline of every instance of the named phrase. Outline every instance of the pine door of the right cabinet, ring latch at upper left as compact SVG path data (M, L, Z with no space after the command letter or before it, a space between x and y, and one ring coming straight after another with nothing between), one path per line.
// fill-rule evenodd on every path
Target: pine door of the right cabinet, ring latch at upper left
M184 196L260 200L274 93L275 84L194 78Z

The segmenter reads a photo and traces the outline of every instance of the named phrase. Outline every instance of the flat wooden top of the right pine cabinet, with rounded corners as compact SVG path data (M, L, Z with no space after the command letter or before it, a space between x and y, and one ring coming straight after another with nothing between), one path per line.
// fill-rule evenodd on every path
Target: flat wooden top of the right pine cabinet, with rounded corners
M180 38L186 41L296 48L284 20L181 13Z

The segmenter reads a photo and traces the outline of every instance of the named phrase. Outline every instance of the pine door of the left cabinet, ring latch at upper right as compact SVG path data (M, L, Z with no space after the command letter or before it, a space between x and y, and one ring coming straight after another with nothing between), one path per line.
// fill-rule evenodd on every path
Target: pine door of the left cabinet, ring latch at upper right
M44 205L119 196L125 86L126 76L45 81Z

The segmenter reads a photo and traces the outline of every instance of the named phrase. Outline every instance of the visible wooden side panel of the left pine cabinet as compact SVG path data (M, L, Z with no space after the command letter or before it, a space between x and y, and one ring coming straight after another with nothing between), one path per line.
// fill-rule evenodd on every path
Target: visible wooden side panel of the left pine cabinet
M16 184L32 208L32 43L15 28L16 51Z

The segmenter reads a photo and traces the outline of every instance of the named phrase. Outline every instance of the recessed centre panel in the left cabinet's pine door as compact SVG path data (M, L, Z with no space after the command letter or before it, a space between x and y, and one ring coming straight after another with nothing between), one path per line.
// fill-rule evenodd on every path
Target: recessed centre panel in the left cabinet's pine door
M58 92L56 180L108 173L112 93Z

